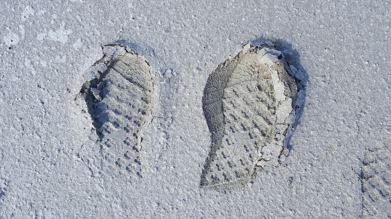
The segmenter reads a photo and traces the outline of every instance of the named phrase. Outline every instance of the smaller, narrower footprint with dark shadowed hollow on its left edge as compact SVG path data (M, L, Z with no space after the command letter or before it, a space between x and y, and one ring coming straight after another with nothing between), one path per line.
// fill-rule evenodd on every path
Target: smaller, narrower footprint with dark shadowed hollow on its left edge
M79 96L86 101L105 160L142 177L141 131L152 110L152 69L124 45L106 45L104 52L94 65L105 64L106 70L85 82Z

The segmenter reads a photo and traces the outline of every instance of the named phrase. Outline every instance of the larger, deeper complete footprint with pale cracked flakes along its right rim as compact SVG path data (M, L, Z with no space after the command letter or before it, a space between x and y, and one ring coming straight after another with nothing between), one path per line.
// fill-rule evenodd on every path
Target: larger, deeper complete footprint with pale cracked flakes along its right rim
M296 115L297 84L270 41L246 45L209 75L203 97L211 146L201 186L246 184L287 154Z

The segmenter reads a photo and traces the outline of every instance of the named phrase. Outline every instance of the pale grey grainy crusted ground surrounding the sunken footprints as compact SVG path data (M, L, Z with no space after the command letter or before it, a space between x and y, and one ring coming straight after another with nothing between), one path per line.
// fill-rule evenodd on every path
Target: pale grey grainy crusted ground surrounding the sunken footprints
M390 217L390 182L365 190L377 173L361 173L368 151L391 150L390 12L386 0L2 1L0 218ZM208 75L270 37L308 80L290 152L245 187L201 188ZM156 71L142 179L99 171L74 100L113 42Z

